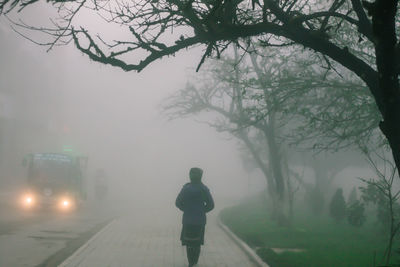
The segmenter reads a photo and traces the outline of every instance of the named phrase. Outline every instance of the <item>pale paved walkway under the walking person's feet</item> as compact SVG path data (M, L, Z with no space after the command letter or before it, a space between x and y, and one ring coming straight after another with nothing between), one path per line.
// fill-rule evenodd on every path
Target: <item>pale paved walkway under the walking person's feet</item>
M145 213L140 218L115 219L61 266L187 266L185 247L179 242L181 214L176 210L146 210ZM225 266L255 265L217 225L214 213L208 217L198 267Z

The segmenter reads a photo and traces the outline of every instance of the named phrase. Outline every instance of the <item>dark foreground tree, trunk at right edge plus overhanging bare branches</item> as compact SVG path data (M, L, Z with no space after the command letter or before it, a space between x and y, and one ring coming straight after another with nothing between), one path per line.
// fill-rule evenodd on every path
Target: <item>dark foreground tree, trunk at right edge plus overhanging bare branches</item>
M37 0L0 0L0 12ZM397 0L50 0L60 18L48 45L73 41L94 61L141 71L151 62L195 45L219 57L231 42L253 38L265 46L301 45L337 62L368 86L383 120L380 128L400 166ZM126 28L130 37L107 40L75 23L81 13ZM84 12L85 11L85 12ZM26 25L25 25L26 26ZM30 27L30 26L28 26ZM250 45L250 42L249 42ZM248 51L249 47L242 46ZM135 57L130 55L138 52ZM139 59L137 59L139 57ZM140 58L141 57L141 58ZM137 61L130 61L131 58Z

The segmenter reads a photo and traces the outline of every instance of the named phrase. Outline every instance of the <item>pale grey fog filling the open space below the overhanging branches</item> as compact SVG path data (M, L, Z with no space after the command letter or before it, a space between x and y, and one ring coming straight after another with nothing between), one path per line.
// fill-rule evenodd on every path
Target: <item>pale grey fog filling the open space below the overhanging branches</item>
M63 146L88 156L89 198L95 171L106 171L114 206L140 199L173 206L194 166L203 168L217 203L252 190L237 141L192 119L169 121L161 112L164 99L194 74L200 50L135 73L91 62L72 44L46 53L12 31L5 18L0 40L4 191L24 183L24 155L62 152ZM261 176L251 179L255 191L263 189Z

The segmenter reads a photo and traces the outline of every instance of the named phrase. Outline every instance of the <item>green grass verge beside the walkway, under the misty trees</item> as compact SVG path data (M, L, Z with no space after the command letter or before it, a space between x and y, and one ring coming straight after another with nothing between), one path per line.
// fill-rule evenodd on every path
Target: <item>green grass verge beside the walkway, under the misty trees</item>
M374 218L356 228L298 209L292 226L281 227L270 220L265 206L261 198L252 198L224 209L221 220L271 267L383 266L387 236ZM273 248L303 251L276 253ZM394 252L391 266L399 262Z

